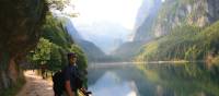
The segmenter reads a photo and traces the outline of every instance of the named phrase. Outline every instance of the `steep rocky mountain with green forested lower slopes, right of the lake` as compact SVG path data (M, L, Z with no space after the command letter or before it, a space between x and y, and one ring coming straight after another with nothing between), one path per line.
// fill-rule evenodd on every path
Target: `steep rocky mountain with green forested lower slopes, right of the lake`
M140 58L143 58L140 60L159 60L160 58L163 60L170 60L192 57L191 51L198 45L189 43L194 41L194 39L188 39L191 38L189 35L196 35L197 32L206 34L207 31L210 29L207 29L206 32L201 32L199 29L206 28L219 20L219 0L165 0L164 2L161 0L154 0L154 5L151 7L151 12L145 14L146 20L142 22L142 24L136 26L135 39L132 43L142 43L142 45L138 46L138 51L135 49L131 49L131 51L129 48L126 50L128 44L128 47L132 47L132 44L127 43L124 44L126 46L120 46L117 50L115 50L115 53L117 53L116 56L119 56L119 53L123 56L130 56L128 55L129 52L136 53L137 51L138 60ZM146 5L146 3L142 3L142 5ZM183 28L186 28L185 32L177 31ZM216 33L214 32L214 34ZM200 35L199 37L196 37L196 39L204 39L201 37L205 36ZM174 41L171 41L171 39ZM212 39L217 39L217 35L212 37ZM185 44L187 44L187 46ZM171 51L178 50L178 47L184 48L184 50L176 52L175 56L171 56L174 55ZM162 48L165 50L162 50ZM209 51L212 51L210 48L211 47L209 47ZM126 51L126 53L124 51ZM198 50L194 51L197 52ZM184 56L183 52L187 52L187 55ZM165 58L163 58L165 53L168 55ZM215 51L212 53L216 55ZM136 57L135 55L131 56ZM200 57L204 57L204 55L197 55L196 57L200 59ZM132 57L128 57L127 59L132 59Z

